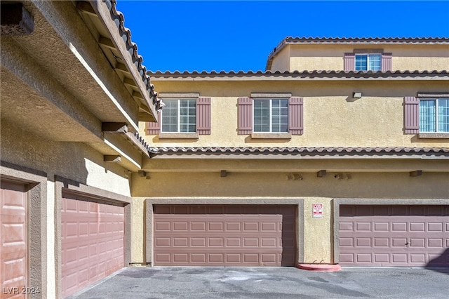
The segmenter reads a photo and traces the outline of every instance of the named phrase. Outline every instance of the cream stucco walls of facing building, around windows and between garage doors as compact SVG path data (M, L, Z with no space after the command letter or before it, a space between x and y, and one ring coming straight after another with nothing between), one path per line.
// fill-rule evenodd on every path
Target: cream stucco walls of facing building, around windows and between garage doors
M334 51L328 55L318 48L308 51L310 55L321 56L316 65L338 61L335 63L342 66L342 56L333 58ZM145 135L145 124L140 124L140 133L153 147L449 147L447 138L423 139L403 133L403 98L418 91L447 91L447 80L274 80L248 76L248 79L215 81L210 78L168 81L153 77L152 81L161 94L199 93L211 98L210 135L199 135L198 140L159 139L159 135ZM363 97L352 98L353 91L360 91ZM303 97L304 134L293 135L291 140L238 135L237 99L250 97L251 93L291 93ZM448 159L377 158L156 154L144 160L142 168L147 177L134 176L131 190L133 197L182 197L192 202L201 197L208 199L208 204L220 204L223 198L255 204L264 204L267 197L274 198L274 202L285 198L300 200L304 209L299 211L297 221L303 219L300 223L303 226L297 239L303 246L299 248L303 256L298 261L335 263L334 199L378 199L381 203L389 200L389 204L403 199L412 199L417 204L442 199L449 204ZM316 172L321 169L326 169L327 174L317 178ZM227 171L226 177L220 176L221 170ZM415 170L422 170L423 175L411 177L410 171ZM302 180L292 180L292 174ZM314 203L323 204L323 218L312 218ZM136 205L135 215L148 217L142 204ZM135 223L133 233L139 236L139 242L144 233L147 237L142 241L151 241L151 230L145 232L140 223ZM142 252L135 253L136 259L145 257L143 244L135 244L133 248Z

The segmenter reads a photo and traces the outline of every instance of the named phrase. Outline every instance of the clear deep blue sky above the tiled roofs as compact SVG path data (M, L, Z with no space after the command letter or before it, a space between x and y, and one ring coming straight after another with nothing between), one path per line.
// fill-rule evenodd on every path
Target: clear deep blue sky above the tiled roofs
M449 1L128 1L152 71L257 71L286 36L449 37Z

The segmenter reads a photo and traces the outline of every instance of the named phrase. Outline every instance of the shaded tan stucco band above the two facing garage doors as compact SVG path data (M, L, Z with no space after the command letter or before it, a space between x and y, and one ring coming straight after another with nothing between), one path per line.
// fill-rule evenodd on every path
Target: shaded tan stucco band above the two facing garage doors
M241 161L241 164L245 164ZM329 162L332 167L332 161ZM423 173L410 177L408 172L337 173L317 178L302 172L303 180L288 180L288 173L232 172L221 178L220 171L152 172L149 180L133 180L134 197L332 197L332 198L448 198L449 173ZM345 174L345 173L344 173ZM151 194L151 195L149 195Z

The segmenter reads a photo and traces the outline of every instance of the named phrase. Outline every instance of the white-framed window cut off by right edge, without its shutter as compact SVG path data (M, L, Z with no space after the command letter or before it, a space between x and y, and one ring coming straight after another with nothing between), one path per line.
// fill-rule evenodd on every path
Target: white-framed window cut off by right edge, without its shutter
M420 99L420 133L449 133L449 99Z

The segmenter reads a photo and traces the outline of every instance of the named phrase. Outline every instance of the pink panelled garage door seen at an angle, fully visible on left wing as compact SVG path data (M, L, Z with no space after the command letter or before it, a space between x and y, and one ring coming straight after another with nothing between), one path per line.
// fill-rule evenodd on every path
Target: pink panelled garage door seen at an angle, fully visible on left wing
M64 198L61 221L63 297L124 266L123 207Z

